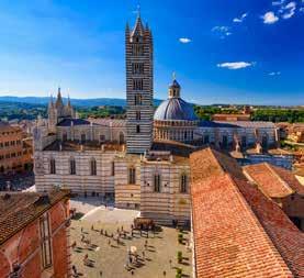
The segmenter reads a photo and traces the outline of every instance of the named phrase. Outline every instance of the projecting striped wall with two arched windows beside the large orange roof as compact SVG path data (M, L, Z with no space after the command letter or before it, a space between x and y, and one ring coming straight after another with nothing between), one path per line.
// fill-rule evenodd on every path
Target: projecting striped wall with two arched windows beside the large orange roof
M160 175L160 192L154 190L155 175ZM190 184L180 192L181 175L190 177L188 163L147 162L140 167L140 215L160 223L190 221Z

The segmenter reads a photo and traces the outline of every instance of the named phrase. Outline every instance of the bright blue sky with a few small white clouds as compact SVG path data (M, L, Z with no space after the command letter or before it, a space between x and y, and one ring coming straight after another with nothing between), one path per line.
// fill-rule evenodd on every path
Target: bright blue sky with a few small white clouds
M136 0L1 0L0 96L125 98ZM188 101L304 104L304 0L140 0L156 98L172 71Z

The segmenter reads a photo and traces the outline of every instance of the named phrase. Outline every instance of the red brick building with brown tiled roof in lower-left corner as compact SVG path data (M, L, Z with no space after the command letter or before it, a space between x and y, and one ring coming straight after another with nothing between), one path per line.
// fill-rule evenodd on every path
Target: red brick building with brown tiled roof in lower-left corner
M0 193L0 277L70 277L68 194Z

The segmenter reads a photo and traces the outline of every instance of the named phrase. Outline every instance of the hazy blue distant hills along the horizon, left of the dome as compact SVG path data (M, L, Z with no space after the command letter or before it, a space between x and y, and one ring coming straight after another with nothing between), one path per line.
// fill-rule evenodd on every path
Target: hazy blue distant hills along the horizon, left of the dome
M46 97L11 97L4 96L0 97L0 102L19 102L19 103L29 103L29 104L38 104L45 105L49 101L49 98ZM64 101L67 102L67 98L64 98ZM125 107L125 99L112 99L112 98L98 98L98 99L71 99L71 104L75 107L100 107L100 105L115 105L115 107ZM154 104L159 105L161 100L155 99Z

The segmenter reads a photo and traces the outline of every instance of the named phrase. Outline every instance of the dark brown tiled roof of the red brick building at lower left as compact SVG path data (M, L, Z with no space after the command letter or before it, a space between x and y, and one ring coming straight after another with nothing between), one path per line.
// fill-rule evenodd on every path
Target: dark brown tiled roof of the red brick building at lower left
M1 192L0 245L68 196L67 190L54 190L49 193Z

